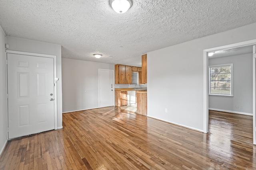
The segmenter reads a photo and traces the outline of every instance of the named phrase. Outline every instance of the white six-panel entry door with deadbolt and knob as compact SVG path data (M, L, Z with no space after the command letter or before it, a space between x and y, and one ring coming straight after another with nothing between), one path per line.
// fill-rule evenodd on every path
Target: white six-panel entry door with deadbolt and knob
M8 138L54 129L52 58L7 53Z

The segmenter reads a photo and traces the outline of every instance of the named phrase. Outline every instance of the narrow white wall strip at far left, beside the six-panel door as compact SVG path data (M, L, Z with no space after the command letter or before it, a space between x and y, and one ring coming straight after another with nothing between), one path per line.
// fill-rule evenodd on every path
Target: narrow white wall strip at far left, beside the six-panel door
M6 90L5 33L0 26L0 154L7 141L7 90Z

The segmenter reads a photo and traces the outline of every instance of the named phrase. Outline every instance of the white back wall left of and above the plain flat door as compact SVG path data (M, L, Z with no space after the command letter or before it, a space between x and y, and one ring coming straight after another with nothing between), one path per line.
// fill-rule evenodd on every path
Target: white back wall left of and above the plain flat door
M99 107L99 68L114 70L114 64L62 59L64 113Z

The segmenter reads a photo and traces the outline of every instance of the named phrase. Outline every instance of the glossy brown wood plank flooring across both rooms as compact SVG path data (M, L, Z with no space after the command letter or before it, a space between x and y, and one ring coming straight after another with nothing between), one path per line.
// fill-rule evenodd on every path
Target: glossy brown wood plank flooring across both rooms
M118 107L63 114L63 129L8 141L0 170L256 169L252 117L209 113L204 134Z

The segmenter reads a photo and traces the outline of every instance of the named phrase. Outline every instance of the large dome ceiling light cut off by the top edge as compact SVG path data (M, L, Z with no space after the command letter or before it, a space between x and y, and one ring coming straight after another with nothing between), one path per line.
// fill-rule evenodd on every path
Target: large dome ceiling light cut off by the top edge
M115 12L122 14L131 8L132 0L110 0L109 4Z

